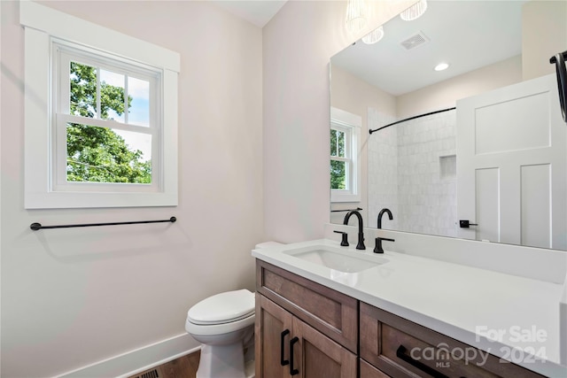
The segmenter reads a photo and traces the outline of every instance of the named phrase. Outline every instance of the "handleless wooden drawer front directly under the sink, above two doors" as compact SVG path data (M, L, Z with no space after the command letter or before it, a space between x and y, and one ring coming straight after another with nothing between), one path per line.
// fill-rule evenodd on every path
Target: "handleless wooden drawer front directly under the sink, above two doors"
M261 260L256 260L256 290L331 340L356 352L356 299Z

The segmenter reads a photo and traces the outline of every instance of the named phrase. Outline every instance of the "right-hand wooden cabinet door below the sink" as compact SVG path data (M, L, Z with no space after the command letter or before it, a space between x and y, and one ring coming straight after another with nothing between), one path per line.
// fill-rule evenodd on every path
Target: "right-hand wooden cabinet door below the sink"
M356 356L307 323L293 318L293 369L298 378L356 378Z

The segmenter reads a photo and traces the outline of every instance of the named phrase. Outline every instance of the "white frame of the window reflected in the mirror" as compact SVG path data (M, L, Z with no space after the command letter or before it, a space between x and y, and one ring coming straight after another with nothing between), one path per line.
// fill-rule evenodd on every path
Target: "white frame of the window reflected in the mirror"
M330 189L330 202L361 202L361 127L362 118L331 106L330 128L345 132L345 158L347 163L346 189Z

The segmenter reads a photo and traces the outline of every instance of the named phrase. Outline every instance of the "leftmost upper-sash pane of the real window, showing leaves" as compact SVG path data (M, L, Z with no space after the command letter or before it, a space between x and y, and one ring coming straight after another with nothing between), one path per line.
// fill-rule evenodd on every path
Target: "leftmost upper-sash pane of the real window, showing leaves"
M94 118L97 114L97 68L71 62L69 79L71 114Z

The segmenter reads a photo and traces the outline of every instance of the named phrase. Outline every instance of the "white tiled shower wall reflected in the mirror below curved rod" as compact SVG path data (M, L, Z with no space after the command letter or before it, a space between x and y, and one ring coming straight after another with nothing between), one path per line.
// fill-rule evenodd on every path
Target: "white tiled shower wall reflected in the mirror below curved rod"
M369 108L369 127L392 122ZM387 207L383 228L456 236L456 118L442 112L369 137L369 226Z

